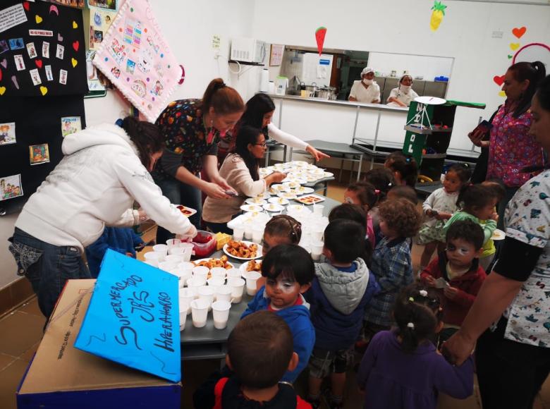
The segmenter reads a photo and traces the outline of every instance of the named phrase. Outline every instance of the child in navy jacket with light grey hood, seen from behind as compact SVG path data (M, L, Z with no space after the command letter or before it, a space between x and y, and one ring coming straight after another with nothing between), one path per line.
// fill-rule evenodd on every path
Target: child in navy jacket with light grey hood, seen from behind
M360 258L365 247L363 224L336 219L326 226L324 237L323 254L329 263L315 264L316 277L305 294L315 328L308 401L319 407L321 384L330 374L331 408L341 408L346 370L353 362L352 347L365 307L379 287Z

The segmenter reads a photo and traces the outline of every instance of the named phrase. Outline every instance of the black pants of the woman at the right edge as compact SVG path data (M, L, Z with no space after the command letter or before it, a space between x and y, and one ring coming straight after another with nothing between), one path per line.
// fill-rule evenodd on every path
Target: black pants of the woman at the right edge
M550 372L550 348L503 338L506 319L485 331L475 350L483 409L532 409Z

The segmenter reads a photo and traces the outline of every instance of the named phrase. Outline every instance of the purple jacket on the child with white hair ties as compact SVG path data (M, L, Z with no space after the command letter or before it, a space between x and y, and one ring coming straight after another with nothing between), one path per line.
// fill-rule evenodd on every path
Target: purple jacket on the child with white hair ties
M473 393L474 365L470 357L453 367L431 342L404 353L393 331L381 331L369 343L357 383L365 389L365 409L435 409L439 392L459 399Z

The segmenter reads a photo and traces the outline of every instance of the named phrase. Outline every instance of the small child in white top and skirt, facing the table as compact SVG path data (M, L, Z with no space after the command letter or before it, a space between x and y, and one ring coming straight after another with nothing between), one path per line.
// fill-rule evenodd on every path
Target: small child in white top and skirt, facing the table
M434 250L444 251L445 232L443 226L456 212L456 200L460 188L470 180L470 169L454 164L445 173L443 187L434 190L422 204L427 221L418 232L417 243L424 245L424 252L420 257L420 269L424 269L432 259Z

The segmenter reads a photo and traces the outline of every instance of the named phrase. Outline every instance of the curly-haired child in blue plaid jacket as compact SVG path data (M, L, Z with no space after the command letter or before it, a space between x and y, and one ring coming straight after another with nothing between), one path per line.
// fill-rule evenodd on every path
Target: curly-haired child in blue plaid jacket
M372 273L381 291L374 296L365 314L365 338L389 329L393 323L391 306L399 291L414 281L407 238L420 227L420 214L406 199L386 200L380 205L380 230L384 238L372 255Z

